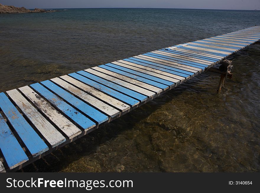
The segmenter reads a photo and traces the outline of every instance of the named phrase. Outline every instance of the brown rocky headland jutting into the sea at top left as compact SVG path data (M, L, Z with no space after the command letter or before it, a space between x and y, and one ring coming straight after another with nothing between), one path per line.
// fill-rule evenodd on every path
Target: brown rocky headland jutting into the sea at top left
M0 14L8 14L8 13L44 13L50 12L45 9L35 8L34 10L26 9L25 7L15 7L12 5L2 5L0 4Z

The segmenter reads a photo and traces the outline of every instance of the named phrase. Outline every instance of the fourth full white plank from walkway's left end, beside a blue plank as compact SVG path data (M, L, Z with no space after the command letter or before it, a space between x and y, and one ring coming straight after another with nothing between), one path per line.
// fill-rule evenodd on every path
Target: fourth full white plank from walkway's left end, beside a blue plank
M113 107L121 110L122 112L125 112L130 109L130 106L127 105L126 103L121 102L120 100L117 100L109 95L106 95L105 93L100 92L99 90L96 90L93 87L90 87L82 82L79 82L78 80L69 77L68 75L61 76L63 80L66 80L70 84L77 86L78 88L81 88L84 90L86 93L99 98L100 100L108 103L109 105L112 105Z

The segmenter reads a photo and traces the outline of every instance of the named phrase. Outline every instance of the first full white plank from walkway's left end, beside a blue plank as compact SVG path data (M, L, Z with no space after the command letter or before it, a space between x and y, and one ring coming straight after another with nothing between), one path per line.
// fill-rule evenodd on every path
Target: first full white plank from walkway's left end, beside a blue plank
M66 141L66 138L47 121L41 113L27 101L18 90L13 89L6 92L14 103L22 110L25 116L38 129L43 137L51 144L52 147Z

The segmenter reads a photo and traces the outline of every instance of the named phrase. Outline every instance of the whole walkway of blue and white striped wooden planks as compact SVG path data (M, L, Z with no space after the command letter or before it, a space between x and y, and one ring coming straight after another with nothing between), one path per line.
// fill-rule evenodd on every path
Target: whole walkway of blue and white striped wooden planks
M0 171L16 171L260 39L260 26L0 93Z

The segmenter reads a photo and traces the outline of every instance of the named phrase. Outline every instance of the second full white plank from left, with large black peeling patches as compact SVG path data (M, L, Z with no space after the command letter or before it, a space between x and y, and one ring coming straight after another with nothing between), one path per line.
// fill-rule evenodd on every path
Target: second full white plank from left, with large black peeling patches
M24 95L50 120L63 131L69 139L79 135L82 131L71 123L60 112L53 108L50 103L34 92L29 86L19 88Z

